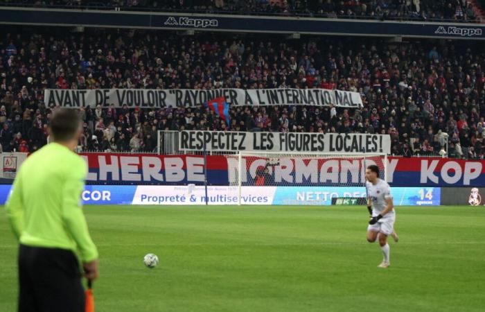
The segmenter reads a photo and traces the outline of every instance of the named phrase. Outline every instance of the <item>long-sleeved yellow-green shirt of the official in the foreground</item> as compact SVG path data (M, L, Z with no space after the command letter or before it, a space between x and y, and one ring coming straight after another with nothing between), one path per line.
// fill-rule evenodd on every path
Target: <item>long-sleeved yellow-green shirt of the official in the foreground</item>
M23 245L62 248L82 261L98 258L82 213L86 162L69 148L51 143L21 165L6 211Z

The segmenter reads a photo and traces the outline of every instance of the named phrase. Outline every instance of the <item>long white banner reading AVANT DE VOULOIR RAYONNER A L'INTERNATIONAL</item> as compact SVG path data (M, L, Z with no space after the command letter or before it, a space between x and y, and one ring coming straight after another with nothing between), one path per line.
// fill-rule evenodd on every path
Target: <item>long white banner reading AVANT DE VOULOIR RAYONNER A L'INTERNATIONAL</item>
M195 107L213 98L242 105L314 105L362 107L358 92L329 89L46 89L46 107Z

